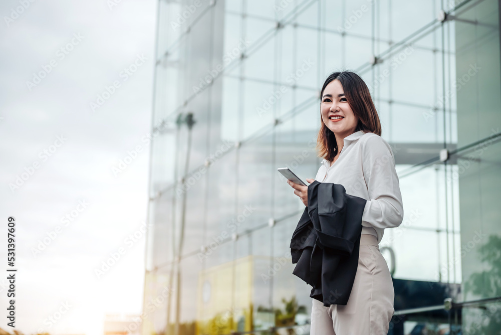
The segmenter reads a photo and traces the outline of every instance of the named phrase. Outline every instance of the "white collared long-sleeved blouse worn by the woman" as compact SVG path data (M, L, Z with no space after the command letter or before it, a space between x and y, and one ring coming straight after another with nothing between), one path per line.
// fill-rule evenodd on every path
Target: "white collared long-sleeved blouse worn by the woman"
M362 130L344 138L338 159L323 159L315 180L344 186L346 193L367 200L362 215L362 234L383 238L384 228L398 227L403 220L402 195L395 158L381 136Z

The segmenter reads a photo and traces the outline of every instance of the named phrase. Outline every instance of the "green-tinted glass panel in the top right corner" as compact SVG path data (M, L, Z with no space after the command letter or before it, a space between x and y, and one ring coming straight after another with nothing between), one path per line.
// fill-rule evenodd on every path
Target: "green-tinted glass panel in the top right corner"
M482 2L459 17L479 22L456 22L456 73L461 87L457 97L458 145L463 146L489 136L501 124L497 3Z

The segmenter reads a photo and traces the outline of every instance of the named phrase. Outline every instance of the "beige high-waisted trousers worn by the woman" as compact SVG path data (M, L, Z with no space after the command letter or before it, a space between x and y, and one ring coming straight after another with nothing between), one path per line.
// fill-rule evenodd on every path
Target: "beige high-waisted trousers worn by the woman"
M387 335L394 296L390 270L376 237L362 234L348 303L325 307L312 299L311 335Z

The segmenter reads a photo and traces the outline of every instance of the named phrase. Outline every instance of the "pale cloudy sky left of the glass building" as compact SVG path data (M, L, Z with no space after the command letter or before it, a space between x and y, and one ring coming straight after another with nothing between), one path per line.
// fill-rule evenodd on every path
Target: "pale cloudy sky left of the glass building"
M0 14L0 328L14 330L13 217L15 329L102 334L106 313L142 308L156 2L5 0Z

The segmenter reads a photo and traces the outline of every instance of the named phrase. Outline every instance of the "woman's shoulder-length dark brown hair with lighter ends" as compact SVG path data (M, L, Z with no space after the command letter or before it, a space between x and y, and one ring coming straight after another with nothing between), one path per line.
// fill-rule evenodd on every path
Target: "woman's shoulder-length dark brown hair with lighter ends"
M346 100L350 104L351 109L356 117L358 124L356 131L363 130L364 132L372 132L381 136L381 123L379 116L372 101L369 88L360 76L351 71L334 72L327 77L320 91L320 101L326 86L333 80L339 80L343 85ZM320 117L320 130L317 137L317 152L318 156L327 160L333 160L338 151L338 144L334 133L327 128L322 116Z

